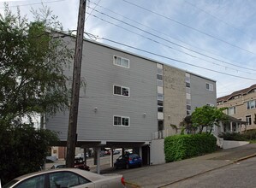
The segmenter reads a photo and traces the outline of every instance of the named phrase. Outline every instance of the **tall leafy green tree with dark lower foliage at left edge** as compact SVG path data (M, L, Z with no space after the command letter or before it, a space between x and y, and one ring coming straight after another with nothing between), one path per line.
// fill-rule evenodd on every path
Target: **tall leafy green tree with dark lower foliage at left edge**
M49 13L49 11L46 11ZM47 15L48 16L48 15ZM57 134L37 129L33 116L54 115L68 107L70 91L64 69L74 50L51 22L11 13L5 4L0 14L0 179L6 183L24 173L38 171ZM55 18L55 17L52 17ZM54 22L57 23L57 22ZM53 28L57 28L53 25ZM26 123L24 121L26 119Z

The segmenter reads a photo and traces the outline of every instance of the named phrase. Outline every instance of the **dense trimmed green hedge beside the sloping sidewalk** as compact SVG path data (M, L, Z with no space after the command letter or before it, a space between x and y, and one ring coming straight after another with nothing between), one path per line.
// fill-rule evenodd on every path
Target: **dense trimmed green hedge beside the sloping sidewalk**
M217 138L209 134L175 135L164 139L166 162L201 156L216 150Z

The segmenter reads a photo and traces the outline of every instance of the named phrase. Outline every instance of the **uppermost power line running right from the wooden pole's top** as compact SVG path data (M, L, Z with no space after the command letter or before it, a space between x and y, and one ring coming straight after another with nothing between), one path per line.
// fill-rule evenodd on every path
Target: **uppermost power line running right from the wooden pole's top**
M91 2L91 3L92 3L92 2ZM92 3L92 4L95 4L95 5L96 5L96 3ZM103 9L107 9L107 8L101 6L101 5L98 5L98 7L103 8ZM90 7L89 7L89 8L90 8ZM92 8L90 8L90 9L92 9ZM122 16L123 18L128 19L128 21L133 21L133 22L139 24L140 26L145 26L146 28L149 28L149 29L151 29L151 30L154 31L154 32L158 32L158 33L163 34L164 36L170 38L170 36L167 35L167 34L165 34L164 32L160 32L160 31L158 31L158 30L156 30L156 29L153 29L153 28L150 27L150 26L146 26L146 25L144 25L144 24L141 24L139 21L134 21L134 20L132 20L132 19L130 19L130 18L124 16L124 15L121 15L121 14L116 13L115 11L113 11L113 10L111 10L111 9L107 9L107 10L110 11L111 13L114 13L114 14L116 14L116 15L120 15L120 16ZM179 40L179 39L176 39L176 38L173 38L173 39L175 39L175 40L177 40L177 41L179 41L179 42L182 42L183 44L187 44L187 43L185 43L185 42L182 41L182 40ZM192 47L194 47L194 48L199 49L198 47L193 46L193 45L191 45L191 44L187 44L187 45L190 45L190 46L192 46ZM202 50L202 49L199 49L199 50ZM211 52L208 52L208 51L206 51L206 50L204 50L204 51L207 52L207 53L210 53L210 54L212 54L212 55L214 55L214 56L218 56L218 55L213 54L213 53L211 53ZM198 52L195 51L195 53L198 53ZM203 55L202 55L202 56L203 56ZM220 56L220 57L222 57L222 56ZM222 57L222 58L225 59L225 57ZM256 69L241 67L241 66L239 66L239 65L235 65L235 64L230 63L230 62L225 62L225 61L219 60L219 59L217 59L217 58L215 58L214 60L216 60L216 61L218 61L218 62L223 62L223 63L229 64L229 65L234 66L234 67L237 67L237 68L243 68L243 69L247 69L247 70L256 71ZM234 61L232 61L232 62L234 62ZM241 64L242 64L243 62L237 62L237 63L241 63ZM231 69L232 69L232 68L231 68ZM234 69L234 70L236 70L236 69ZM245 73L247 73L247 72L245 72Z

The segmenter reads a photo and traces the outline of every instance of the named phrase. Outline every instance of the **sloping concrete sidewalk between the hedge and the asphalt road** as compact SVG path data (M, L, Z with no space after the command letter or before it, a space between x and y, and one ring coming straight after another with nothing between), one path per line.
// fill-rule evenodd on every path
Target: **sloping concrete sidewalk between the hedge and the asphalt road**
M167 187L214 169L256 156L256 144L247 144L229 150L220 150L180 162L170 162L123 172L127 187Z

